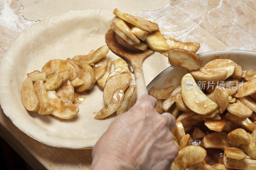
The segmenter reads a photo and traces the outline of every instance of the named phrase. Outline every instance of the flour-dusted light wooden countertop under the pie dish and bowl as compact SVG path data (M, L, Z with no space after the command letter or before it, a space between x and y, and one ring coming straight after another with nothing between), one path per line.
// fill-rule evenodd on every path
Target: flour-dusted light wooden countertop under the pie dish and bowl
M12 23L1 19L8 16L6 8L16 16L10 18ZM139 16L161 23L168 34L179 40L199 42L198 52L224 49L256 51L255 10L255 0L175 0L161 10L142 12ZM1 1L0 13L1 58L22 29L36 22L28 23L22 17L22 6L16 0ZM92 150L61 149L40 143L15 127L2 109L0 135L34 169L89 169L92 163Z

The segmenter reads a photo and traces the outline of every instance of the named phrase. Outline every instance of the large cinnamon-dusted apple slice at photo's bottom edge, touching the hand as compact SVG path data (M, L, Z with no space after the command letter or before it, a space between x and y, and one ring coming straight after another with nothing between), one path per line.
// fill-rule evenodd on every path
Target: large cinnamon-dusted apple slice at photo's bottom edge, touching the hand
M178 156L174 159L174 164L179 169L185 169L188 166L202 162L206 157L206 151L200 146L186 146L179 151Z

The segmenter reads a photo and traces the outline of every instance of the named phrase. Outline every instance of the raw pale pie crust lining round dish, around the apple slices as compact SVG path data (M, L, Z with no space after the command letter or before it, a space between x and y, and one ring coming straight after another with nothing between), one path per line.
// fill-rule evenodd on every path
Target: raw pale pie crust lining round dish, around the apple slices
M94 86L83 92L79 113L69 120L28 112L21 102L21 85L26 74L42 68L51 59L83 55L105 45L105 34L114 18L103 9L72 10L46 18L24 30L1 59L0 104L21 131L44 144L71 149L91 148L116 117L95 120L93 112L103 108L103 91ZM112 52L107 55L118 58ZM161 65L161 67L158 67ZM155 53L143 64L146 83L168 67L168 58ZM134 84L134 77L131 85ZM89 95L90 94L90 95Z

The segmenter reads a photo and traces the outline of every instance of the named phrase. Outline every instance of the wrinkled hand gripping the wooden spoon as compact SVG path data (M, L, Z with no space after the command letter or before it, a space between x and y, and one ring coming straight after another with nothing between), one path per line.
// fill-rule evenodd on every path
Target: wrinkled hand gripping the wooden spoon
M170 132L176 120L155 106L154 97L143 95L118 116L96 143L91 169L169 169L178 154Z

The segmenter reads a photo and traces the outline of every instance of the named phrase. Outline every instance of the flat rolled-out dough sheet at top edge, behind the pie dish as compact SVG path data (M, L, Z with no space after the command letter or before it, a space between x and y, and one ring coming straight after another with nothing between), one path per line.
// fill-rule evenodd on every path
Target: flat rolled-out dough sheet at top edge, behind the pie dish
M130 13L132 15L140 11L153 11L163 8L170 0L19 0L24 7L25 19L43 20L68 10L82 10L85 8L101 8Z

